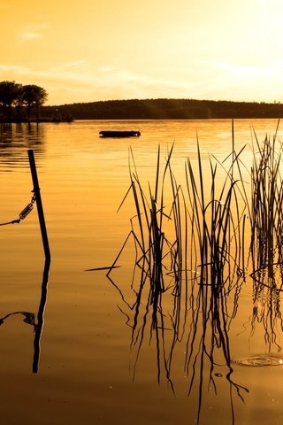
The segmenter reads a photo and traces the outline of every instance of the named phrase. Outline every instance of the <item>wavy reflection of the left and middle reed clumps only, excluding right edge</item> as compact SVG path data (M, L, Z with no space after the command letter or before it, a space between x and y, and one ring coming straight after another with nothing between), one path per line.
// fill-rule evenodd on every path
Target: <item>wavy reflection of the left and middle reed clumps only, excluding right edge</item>
M136 274L136 272L134 272ZM174 372L183 367L187 375L187 394L198 392L196 423L201 421L203 393L211 387L217 394L219 377L226 377L230 390L227 392L234 423L233 392L244 401L247 388L233 379L233 361L229 343L231 322L237 313L237 302L241 292L242 280L238 279L233 291L226 291L225 285L216 294L211 285L203 284L199 275L183 283L183 290L177 294L172 282L165 284L164 291L152 290L145 269L140 271L139 284L136 276L132 279L134 304L127 301L127 291L121 290L117 282L111 283L119 290L122 305L119 310L126 317L126 325L131 330L131 352L134 355L133 380L142 345L154 343L157 358L157 382L161 383L164 375L167 383L175 393ZM229 311L228 298L233 297L233 309ZM187 308L184 311L183 305ZM185 350L185 361L179 363L180 350ZM178 362L176 365L176 361ZM221 373L218 371L221 370ZM225 400L223 400L225 402Z

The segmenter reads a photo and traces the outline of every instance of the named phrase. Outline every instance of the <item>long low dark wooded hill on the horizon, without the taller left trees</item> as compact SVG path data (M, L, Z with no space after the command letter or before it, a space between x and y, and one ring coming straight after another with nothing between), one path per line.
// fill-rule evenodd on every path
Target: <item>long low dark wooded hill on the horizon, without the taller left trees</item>
M42 106L42 116L73 120L205 120L283 116L283 104L195 99L131 99Z

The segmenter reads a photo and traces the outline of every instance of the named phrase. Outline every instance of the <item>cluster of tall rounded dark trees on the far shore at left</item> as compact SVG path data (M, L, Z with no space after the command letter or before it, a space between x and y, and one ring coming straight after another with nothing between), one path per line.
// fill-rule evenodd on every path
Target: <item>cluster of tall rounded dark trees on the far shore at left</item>
M0 81L0 120L39 120L40 108L47 97L47 91L35 84L22 85L15 81Z

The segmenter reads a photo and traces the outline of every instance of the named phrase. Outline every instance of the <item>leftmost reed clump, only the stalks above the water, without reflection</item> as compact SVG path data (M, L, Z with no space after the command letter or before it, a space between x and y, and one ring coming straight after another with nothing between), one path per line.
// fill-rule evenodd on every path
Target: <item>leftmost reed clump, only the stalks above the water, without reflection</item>
M149 278L151 289L153 293L164 292L164 274L173 274L176 282L180 281L180 274L183 267L182 256L182 220L181 220L181 206L180 206L180 186L172 173L170 164L172 158L172 151L168 152L168 157L165 159L165 166L163 172L160 166L160 148L157 151L157 171L156 180L152 189L149 184L148 195L142 188L139 174L134 162L134 154L130 149L129 151L129 175L130 187L126 191L126 196L123 198L119 209L124 204L126 197L132 193L134 198L134 218L131 220L132 230L129 236L134 237L135 250L136 250L136 266L146 269L146 276ZM164 205L164 187L165 180L169 177L172 190L171 208L165 211ZM182 199L183 201L184 199ZM186 210L186 209L185 209ZM185 211L184 210L184 211ZM119 211L119 210L118 210ZM171 221L174 228L174 236L172 239L167 236L164 222ZM137 226L135 226L137 223ZM185 227L185 232L187 228ZM126 240L128 240L128 237ZM123 245L124 248L125 245ZM123 251L119 252L120 253ZM115 259L113 266L116 264ZM170 266L168 267L168 259ZM109 274L111 273L111 270ZM178 289L176 289L178 292Z

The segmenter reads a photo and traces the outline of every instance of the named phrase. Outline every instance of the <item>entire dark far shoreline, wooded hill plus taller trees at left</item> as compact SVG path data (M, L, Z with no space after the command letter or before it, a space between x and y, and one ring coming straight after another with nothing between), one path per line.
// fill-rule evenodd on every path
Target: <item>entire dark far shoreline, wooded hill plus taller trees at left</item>
M47 91L34 84L0 81L0 121L279 119L283 115L279 102L159 98L44 106L47 98Z

